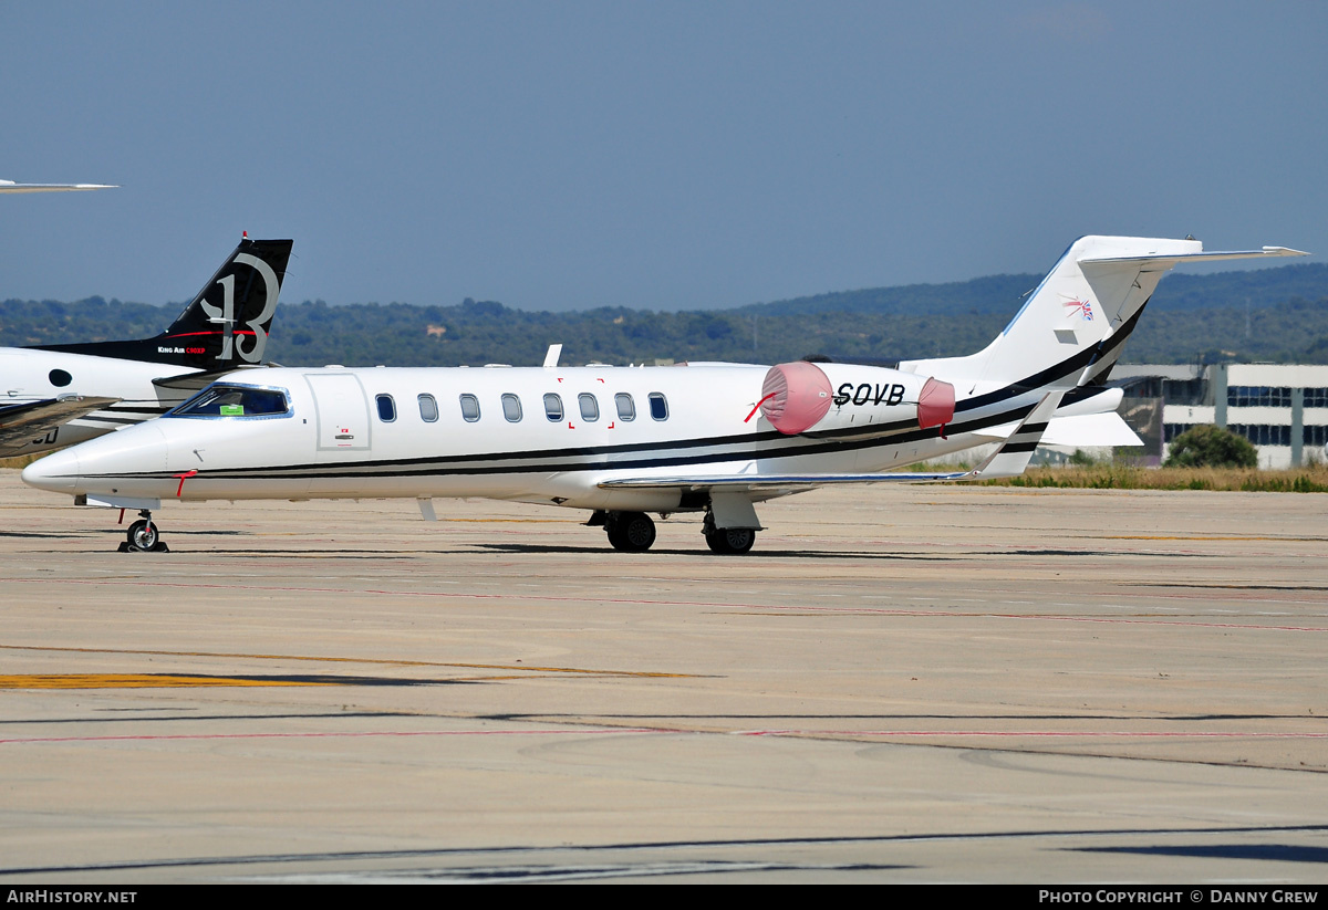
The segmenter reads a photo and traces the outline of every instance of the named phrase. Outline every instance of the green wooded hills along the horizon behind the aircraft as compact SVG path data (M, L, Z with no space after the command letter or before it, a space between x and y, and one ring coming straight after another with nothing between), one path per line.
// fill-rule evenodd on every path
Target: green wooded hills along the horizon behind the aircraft
M458 366L539 363L562 342L563 361L781 362L809 354L890 362L983 348L1041 276L843 291L709 312L602 308L518 310L494 301L456 305L283 302L268 353L287 365ZM0 302L0 345L146 337L181 304L150 306L90 297ZM1328 265L1169 275L1127 362L1202 359L1328 362Z

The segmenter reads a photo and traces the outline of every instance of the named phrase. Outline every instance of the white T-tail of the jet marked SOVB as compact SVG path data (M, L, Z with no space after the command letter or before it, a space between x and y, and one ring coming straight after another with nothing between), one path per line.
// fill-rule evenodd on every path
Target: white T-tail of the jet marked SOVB
M1080 237L987 348L968 357L907 361L943 375L960 397L1100 386L1162 276L1182 263L1304 256L1286 247L1203 252L1194 239Z

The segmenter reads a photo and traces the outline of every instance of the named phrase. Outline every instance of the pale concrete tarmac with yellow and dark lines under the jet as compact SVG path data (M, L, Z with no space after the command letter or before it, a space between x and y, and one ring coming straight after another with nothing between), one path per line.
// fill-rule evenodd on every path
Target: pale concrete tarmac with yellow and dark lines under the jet
M436 507L0 472L0 879L1328 881L1328 497Z

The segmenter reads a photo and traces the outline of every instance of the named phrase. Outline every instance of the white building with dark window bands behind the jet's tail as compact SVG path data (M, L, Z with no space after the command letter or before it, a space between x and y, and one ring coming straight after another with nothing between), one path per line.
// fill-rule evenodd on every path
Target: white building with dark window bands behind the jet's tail
M1240 434L1259 450L1259 467L1328 462L1328 366L1121 363L1121 413L1162 460L1178 435L1199 423Z

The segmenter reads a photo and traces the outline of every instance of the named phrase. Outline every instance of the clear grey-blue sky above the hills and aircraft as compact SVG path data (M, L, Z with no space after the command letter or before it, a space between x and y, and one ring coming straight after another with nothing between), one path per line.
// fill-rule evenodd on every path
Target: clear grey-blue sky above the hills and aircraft
M1328 255L1323 3L0 0L0 298L695 309Z

